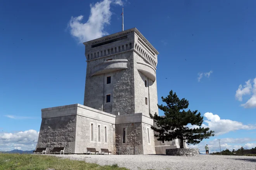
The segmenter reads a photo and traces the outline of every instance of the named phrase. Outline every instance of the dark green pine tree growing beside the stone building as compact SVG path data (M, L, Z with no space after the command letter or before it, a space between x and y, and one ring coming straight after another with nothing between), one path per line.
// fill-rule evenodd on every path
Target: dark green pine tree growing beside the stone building
M180 148L184 148L184 140L187 144L198 144L202 139L214 136L214 131L209 131L209 128L202 128L203 116L200 112L197 114L197 110L191 111L187 109L189 107L189 101L179 99L176 93L173 94L173 90L167 97L162 97L163 102L167 105L158 105L158 108L164 111L165 117L160 117L156 113L154 116L150 115L150 118L154 119L156 126L152 126L157 134L157 140L159 141L172 141L173 139L180 139ZM188 124L197 125L199 128L189 128Z

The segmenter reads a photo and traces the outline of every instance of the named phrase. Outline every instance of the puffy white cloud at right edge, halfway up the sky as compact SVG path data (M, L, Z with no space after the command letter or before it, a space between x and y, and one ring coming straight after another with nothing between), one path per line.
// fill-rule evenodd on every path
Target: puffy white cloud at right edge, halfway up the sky
M252 86L252 81L248 80L244 87L240 84L236 93L235 93L235 98L242 102L242 96L243 95L251 95L251 98L247 100L246 103L241 104L244 108L253 108L256 107L256 78L253 80L253 86Z

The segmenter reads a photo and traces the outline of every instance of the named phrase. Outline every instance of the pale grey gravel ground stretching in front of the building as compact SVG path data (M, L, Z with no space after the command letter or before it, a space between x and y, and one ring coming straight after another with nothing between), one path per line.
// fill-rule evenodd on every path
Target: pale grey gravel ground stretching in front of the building
M130 170L256 170L256 156L56 155Z

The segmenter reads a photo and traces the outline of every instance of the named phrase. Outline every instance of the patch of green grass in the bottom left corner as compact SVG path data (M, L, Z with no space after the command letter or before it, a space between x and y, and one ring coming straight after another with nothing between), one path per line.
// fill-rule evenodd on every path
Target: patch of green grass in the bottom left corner
M0 153L0 170L128 170L117 164L100 166L69 159L61 159L47 155L7 154Z

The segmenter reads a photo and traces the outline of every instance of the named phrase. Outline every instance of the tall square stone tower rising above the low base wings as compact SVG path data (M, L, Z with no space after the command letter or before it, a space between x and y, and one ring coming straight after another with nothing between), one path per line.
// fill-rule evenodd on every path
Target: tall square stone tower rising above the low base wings
M157 50L136 29L84 42L84 105L114 115L158 114Z

